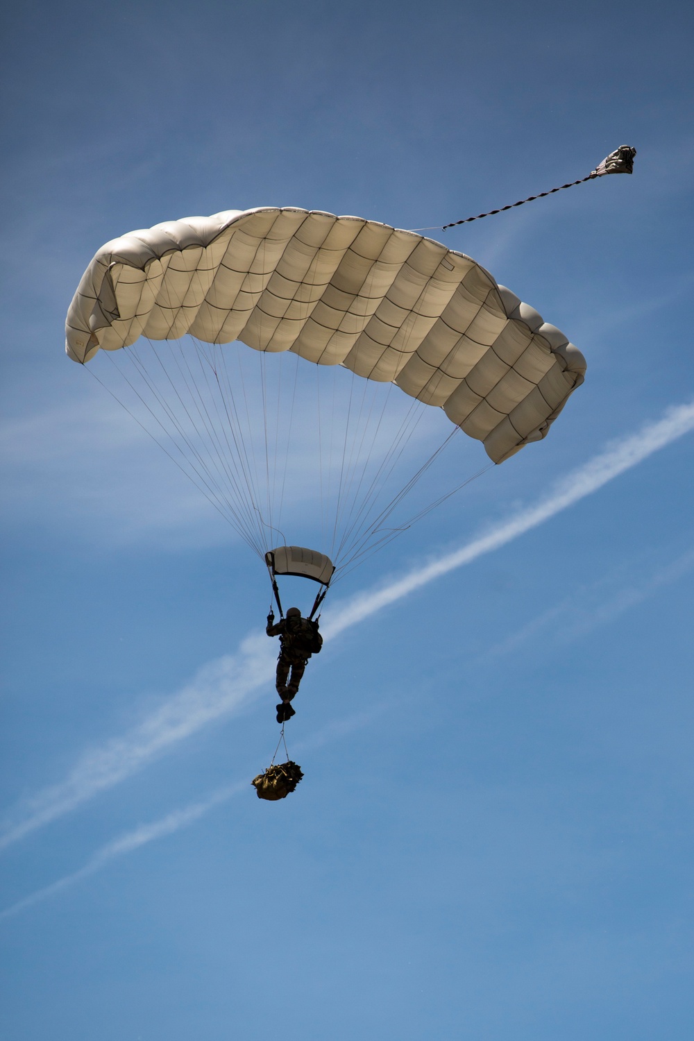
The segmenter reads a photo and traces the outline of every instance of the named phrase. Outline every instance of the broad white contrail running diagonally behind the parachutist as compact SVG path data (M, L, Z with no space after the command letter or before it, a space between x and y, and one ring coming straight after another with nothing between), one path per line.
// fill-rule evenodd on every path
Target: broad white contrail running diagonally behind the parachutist
M324 634L335 637L454 568L500 549L692 429L694 402L669 408L659 421L609 445L564 478L535 506L520 510L459 550L413 568L381 589L367 590L336 605L325 615ZM14 821L5 826L0 836L0 849L111 788L212 720L238 711L262 686L272 682L274 655L264 636L256 633L241 643L236 655L205 666L187 687L139 726L123 737L88 751L65 781L19 805Z

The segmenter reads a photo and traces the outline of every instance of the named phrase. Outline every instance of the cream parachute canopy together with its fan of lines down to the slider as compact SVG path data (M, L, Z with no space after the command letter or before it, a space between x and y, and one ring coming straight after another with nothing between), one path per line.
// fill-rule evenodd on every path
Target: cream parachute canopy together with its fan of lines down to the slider
M107 243L67 321L72 359L100 351L127 360L123 386L150 432L271 570L322 585L396 530L393 503L440 450L427 442L403 482L401 455L422 411L437 410L441 439L459 428L500 463L546 435L586 371L564 333L463 253L376 221L286 207L186 218ZM374 398L378 384L391 385L387 403ZM308 441L330 455L327 477L308 455L302 462ZM326 541L285 552L306 539L295 516L299 537L285 536L282 503L305 497L309 512L310 477L332 497ZM299 568L292 551L294 565L304 555Z

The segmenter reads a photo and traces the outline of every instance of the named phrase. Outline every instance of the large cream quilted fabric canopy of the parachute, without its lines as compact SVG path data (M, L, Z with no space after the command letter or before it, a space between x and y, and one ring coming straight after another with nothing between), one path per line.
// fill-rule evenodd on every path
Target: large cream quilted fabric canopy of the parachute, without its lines
M443 408L503 462L544 437L586 361L470 257L410 231L261 207L166 222L107 243L68 313L88 361L185 333L291 351Z

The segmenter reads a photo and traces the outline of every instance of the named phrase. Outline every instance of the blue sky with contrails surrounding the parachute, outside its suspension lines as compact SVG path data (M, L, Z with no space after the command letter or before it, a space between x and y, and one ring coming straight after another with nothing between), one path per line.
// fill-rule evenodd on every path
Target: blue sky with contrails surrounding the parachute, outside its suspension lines
M4 18L3 1037L689 1038L686 5ZM305 780L260 803L266 577L65 357L82 271L228 208L442 225L620 144L633 177L445 232L586 383L345 578L287 728Z

